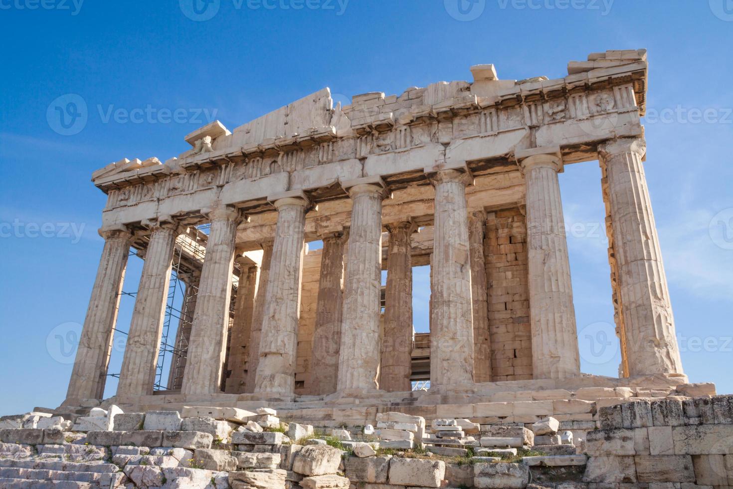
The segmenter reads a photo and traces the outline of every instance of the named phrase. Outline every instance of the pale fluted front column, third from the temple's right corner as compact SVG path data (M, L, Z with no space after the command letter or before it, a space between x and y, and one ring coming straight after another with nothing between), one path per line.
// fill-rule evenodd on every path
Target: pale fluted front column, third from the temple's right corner
M470 176L441 170L435 186L430 388L474 382L474 324L465 186Z

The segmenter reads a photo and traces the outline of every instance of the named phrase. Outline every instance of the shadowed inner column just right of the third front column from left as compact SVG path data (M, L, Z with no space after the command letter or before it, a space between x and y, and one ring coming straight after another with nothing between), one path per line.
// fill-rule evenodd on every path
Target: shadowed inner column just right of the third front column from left
M252 313L254 298L257 296L257 276L259 267L251 259L240 256L235 260L239 265L239 285L232 324L232 339L229 341L229 369L232 375L226 379L225 392L243 394L247 381L247 360L251 345Z

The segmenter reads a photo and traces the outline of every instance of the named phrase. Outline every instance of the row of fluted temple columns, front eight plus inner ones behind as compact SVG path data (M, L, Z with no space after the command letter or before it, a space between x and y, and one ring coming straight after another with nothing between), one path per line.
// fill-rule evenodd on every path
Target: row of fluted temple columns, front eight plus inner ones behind
M622 315L626 334L633 337L628 348L630 374L682 373L641 148L643 141L622 140L600 150L611 186L614 237L619 243L616 259ZM531 154L519 163L526 176L534 378L568 378L579 375L580 361L558 180L562 161L559 154ZM486 358L490 346L485 263L479 252L485 213L467 209L465 187L470 181L468 174L452 169L431 177L435 243L430 368L435 389L490 379L488 362L474 365L474 356ZM412 334L410 235L415 229L410 222L387 225L391 233L385 312L388 340L382 342L381 211L387 192L378 179L361 179L347 186L347 191L353 200L347 243L342 232L323 239L314 384L321 393L408 390L409 354L404 352L409 351ZM233 372L232 389L246 386L247 391L287 397L294 391L303 238L310 202L300 194L277 199L274 205L278 211L276 235L273 242L262 243L259 271L254 266L242 267L237 311L242 314L240 320L248 323L241 327L248 341L235 335L232 346L237 349L233 355L246 358L247 368L246 374ZM235 234L242 219L237 210L228 207L207 215L211 231L188 342L185 394L219 390ZM119 396L152 394L172 254L180 232L172 219L148 224L150 243L122 363ZM130 236L111 229L103 237L106 243L67 400L100 398L103 393ZM338 300L342 276L343 301Z

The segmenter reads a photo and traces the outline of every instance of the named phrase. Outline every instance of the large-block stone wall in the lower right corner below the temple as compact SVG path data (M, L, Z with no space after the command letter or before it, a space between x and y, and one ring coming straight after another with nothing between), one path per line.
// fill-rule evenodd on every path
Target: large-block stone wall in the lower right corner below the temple
M733 485L733 396L612 405L599 410L598 422L586 439L584 482Z

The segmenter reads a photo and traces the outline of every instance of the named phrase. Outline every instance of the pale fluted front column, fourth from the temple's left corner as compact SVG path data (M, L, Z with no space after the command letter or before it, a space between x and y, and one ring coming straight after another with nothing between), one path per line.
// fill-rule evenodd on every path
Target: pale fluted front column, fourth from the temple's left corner
M295 391L303 236L309 202L304 196L286 197L276 200L275 207L278 218L254 391L291 396Z

